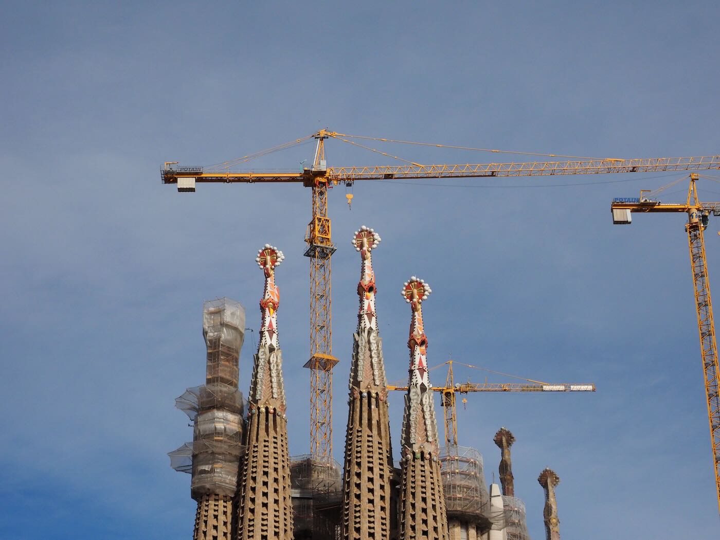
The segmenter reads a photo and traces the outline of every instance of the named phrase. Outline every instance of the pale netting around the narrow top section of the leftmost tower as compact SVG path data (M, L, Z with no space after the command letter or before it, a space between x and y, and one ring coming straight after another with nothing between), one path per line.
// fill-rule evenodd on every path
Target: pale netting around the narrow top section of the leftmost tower
M202 306L202 335L207 346L207 384L238 387L238 359L245 339L245 309L229 298Z

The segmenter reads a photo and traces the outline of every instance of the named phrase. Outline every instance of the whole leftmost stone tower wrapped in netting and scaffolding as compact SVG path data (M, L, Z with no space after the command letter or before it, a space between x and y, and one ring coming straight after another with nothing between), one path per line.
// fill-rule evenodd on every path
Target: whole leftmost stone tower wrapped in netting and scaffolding
M188 388L175 400L194 423L192 443L168 454L174 469L192 473L191 494L197 500L194 540L230 540L233 531L243 431L238 359L244 330L245 310L238 302L205 302L205 384Z

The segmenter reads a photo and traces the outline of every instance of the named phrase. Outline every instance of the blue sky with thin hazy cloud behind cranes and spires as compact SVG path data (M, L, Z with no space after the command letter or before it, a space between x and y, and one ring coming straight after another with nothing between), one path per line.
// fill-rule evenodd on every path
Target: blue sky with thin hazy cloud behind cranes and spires
M287 257L277 279L290 451L308 450L310 192L178 194L160 182L163 161L217 163L320 127L574 156L719 151L715 2L1 5L2 538L190 537L189 476L166 452L192 433L173 400L202 382L203 300L239 300L258 324L253 258L266 242ZM329 165L390 163L333 141L327 152ZM256 166L311 157L305 145ZM407 373L410 313L398 291L415 274L433 287L431 364L451 356L597 384L593 395L470 395L459 410L460 442L485 456L488 481L492 435L516 434L516 492L534 539L546 466L562 479L564 538L716 538L684 220L620 228L609 212L612 197L680 176L366 182L351 211L334 189L336 459L359 278L350 239L366 224L383 238L374 264L391 380ZM664 200L684 197L669 191ZM720 186L703 182L701 197L720 199ZM713 284L718 226L706 234ZM243 389L251 349L248 339ZM391 410L397 441L400 395Z

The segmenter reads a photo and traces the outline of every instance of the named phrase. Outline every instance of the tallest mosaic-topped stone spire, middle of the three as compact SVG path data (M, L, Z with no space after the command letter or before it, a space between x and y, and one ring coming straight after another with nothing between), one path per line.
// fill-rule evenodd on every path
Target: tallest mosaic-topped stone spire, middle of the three
M360 307L350 366L348 428L343 472L343 538L390 539L392 447L387 379L375 311L372 251L380 237L364 225L352 243L360 252Z

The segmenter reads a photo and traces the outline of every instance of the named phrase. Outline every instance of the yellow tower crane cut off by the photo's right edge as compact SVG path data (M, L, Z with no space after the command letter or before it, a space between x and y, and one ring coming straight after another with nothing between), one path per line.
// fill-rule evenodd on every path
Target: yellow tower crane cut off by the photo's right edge
M720 215L720 202L700 202L696 181L699 174L690 174L688 198L685 203L663 203L655 200L662 189L677 184L675 181L668 186L658 189L657 192L642 190L640 197L613 199L611 210L615 225L629 225L634 212L674 212L688 215L685 231L688 233L688 246L690 246L690 267L693 270L693 285L695 289L695 305L698 312L698 330L700 332L700 351L703 361L703 375L705 377L705 393L708 405L708 420L710 422L710 441L715 469L715 487L718 497L718 510L720 511L720 397L718 369L718 346L715 340L715 323L713 320L713 305L710 298L710 282L708 280L708 265L705 257L705 240L703 230L708 226L708 216Z

